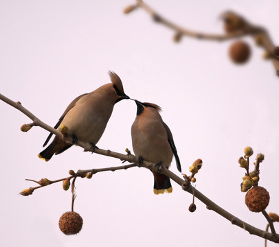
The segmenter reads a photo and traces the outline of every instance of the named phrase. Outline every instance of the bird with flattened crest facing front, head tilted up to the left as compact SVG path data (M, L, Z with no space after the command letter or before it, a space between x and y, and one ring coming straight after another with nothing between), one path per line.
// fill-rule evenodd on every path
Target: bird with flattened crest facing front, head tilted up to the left
M142 103L135 100L137 104L137 117L131 128L133 150L140 159L155 164L170 167L172 156L175 155L177 169L181 172L181 165L177 149L172 138L170 128L164 123L159 115L161 108L155 104ZM154 193L171 193L172 186L170 178L164 174L153 172Z

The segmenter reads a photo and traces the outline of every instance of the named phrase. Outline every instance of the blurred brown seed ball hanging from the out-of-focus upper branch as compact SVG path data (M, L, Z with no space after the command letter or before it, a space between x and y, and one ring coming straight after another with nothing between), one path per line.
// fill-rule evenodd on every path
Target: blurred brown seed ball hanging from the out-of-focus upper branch
M236 41L232 43L229 49L229 55L235 64L244 64L249 60L251 49L249 45L244 41Z

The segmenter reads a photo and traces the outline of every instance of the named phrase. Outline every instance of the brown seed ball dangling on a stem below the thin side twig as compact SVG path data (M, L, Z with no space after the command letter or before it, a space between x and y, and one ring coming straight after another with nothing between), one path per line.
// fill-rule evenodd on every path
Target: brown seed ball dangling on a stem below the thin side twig
M76 212L66 212L60 217L59 228L65 235L74 235L82 228L82 217Z

